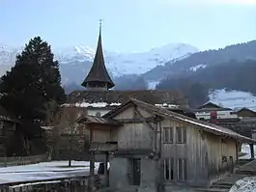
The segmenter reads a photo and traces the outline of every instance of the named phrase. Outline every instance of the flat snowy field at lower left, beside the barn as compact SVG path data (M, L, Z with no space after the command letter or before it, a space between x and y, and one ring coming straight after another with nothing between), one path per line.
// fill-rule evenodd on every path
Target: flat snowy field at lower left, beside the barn
M80 177L89 175L89 162L52 161L38 164L12 166L0 168L0 184L24 181L39 181L58 178ZM96 163L95 172L100 163Z

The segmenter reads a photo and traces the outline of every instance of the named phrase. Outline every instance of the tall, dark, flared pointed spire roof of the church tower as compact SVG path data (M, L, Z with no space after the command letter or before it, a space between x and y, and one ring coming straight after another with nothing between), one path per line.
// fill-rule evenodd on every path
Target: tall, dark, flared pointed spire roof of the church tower
M101 28L101 27L100 27ZM107 69L104 64L103 50L101 44L101 29L98 40L97 51L94 59L93 66L82 83L82 86L86 87L89 82L104 82L108 84L108 89L115 86L112 79L110 78Z

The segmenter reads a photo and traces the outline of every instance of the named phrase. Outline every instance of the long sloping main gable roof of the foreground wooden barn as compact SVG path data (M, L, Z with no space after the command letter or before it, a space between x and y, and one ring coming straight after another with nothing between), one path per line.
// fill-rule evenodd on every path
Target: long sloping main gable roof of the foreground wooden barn
M178 113L175 113L173 111L166 110L164 108L159 108L159 107L156 107L155 105L152 105L152 104L149 104L149 103L146 103L146 102L134 99L134 98L131 98L127 103L125 103L125 104L117 107L116 109L108 112L107 114L102 116L102 118L112 118L112 117L114 117L120 111L123 111L126 107L128 107L129 104L133 104L133 105L135 104L135 105L145 109L146 111L148 111L152 114L155 114L157 116L160 116L160 117L173 118L173 119L180 120L180 121L183 121L183 122L186 122L186 123L194 124L194 125L202 128L202 129L204 129L205 131L213 133L215 135L224 135L224 136L232 137L234 139L241 140L244 143L256 143L256 140L245 137L245 136L242 136L239 133L237 133L233 130L230 130L228 128L218 126L218 125L215 125L213 123L207 123L207 122L204 122L204 121L195 120L195 119L186 117L182 114L178 114Z

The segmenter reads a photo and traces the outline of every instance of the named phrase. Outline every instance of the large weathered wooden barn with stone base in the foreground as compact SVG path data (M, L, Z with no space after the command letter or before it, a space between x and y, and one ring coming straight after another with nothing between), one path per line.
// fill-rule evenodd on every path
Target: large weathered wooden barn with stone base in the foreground
M110 162L105 184L119 189L131 185L138 185L139 191L160 191L162 186L176 184L209 186L233 171L242 143L252 146L256 142L133 98L102 117L82 116L77 123L90 130L91 176L95 155L104 154L105 169Z

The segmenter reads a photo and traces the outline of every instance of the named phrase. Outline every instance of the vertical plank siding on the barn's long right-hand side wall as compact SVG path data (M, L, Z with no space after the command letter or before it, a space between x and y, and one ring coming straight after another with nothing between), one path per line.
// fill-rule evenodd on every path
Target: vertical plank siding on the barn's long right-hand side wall
M177 126L186 129L186 143L177 144ZM221 140L220 136L206 133L190 123L177 120L164 120L161 127L173 127L174 143L165 144L162 141L162 158L174 158L174 172L178 172L177 161L186 159L186 183L193 186L208 185L211 180L219 178L231 170L230 156L236 160L236 141L233 139ZM162 139L163 139L162 132ZM222 142L224 141L224 142ZM222 162L223 156L228 162ZM177 175L177 174L176 174ZM174 182L177 176L174 175Z

